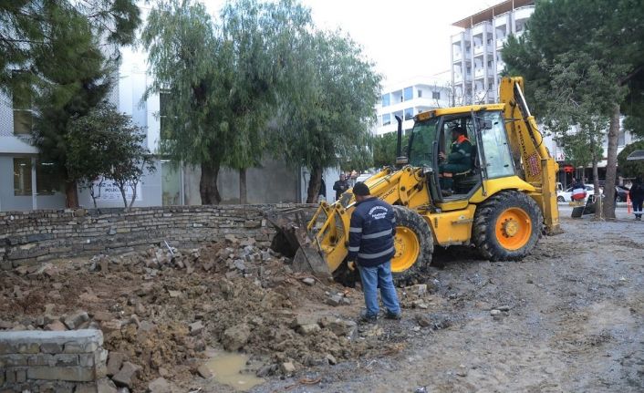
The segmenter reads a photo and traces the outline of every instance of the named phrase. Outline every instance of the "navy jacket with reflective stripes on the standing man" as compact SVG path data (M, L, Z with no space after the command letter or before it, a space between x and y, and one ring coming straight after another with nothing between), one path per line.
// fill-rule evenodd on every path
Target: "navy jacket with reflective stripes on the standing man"
M396 216L389 203L375 197L359 202L351 214L348 260L366 267L384 264L396 252L395 233Z

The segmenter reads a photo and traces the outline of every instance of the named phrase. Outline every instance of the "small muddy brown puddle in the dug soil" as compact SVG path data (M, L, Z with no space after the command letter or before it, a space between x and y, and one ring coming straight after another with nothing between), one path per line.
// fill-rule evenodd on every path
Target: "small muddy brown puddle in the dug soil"
M228 385L237 391L247 391L265 382L254 374L244 373L248 357L243 354L216 353L206 362L213 373L214 380L223 385Z

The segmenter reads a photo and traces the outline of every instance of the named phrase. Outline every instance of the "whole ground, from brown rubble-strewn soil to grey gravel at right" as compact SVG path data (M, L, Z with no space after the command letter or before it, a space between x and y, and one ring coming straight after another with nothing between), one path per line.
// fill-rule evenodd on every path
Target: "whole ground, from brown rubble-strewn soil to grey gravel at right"
M224 346L265 377L254 392L642 391L644 223L563 228L520 263L437 250L425 283L399 289L401 321L353 325L359 286L306 284L265 245L228 239L2 272L0 328L86 311L76 327L142 367L133 391L161 376L234 392L198 371Z

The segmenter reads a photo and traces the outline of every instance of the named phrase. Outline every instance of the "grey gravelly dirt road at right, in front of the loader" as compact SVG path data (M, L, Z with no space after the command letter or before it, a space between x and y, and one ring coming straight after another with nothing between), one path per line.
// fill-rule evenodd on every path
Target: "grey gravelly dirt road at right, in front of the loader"
M563 227L522 263L471 260L456 248L437 254L433 329L415 332L410 312L381 323L383 343L405 343L399 354L253 391L644 391L644 223L565 218ZM305 386L302 377L321 381Z

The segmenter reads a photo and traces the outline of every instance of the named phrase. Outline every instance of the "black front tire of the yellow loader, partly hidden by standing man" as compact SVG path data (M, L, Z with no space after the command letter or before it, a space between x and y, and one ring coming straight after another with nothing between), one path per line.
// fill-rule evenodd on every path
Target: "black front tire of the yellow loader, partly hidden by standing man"
M434 251L434 239L431 236L430 226L421 215L404 206L393 206L396 214L396 231L405 227L409 228L419 241L419 253L416 261L405 271L394 272L394 282L398 285L407 285L423 282L423 276L431 264L431 254Z

